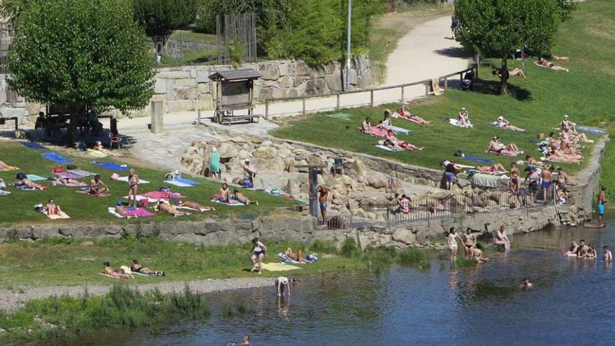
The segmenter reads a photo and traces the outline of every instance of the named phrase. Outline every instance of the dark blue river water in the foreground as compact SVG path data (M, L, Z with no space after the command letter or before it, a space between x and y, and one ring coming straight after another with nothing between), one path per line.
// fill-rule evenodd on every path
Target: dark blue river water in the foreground
M563 257L570 240L615 247L606 230L563 229L511 237L508 254L451 268L434 257L429 271L381 271L305 278L277 302L271 287L210 294L212 315L157 333L81 339L78 345L593 345L615 343L614 268ZM461 251L461 249L460 249ZM535 287L519 288L523 277ZM247 312L224 317L224 306Z

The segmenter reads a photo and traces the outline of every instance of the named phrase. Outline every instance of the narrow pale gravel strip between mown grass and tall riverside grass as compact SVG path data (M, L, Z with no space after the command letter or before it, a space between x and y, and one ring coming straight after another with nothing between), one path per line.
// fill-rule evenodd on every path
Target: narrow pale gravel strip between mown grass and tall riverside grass
M152 280L156 280L152 277ZM160 282L152 284L131 285L140 291L151 291L159 289L164 293L182 292L186 284L192 291L198 293L211 293L218 291L229 291L232 289L251 289L257 287L273 287L273 278L271 277L240 277L224 280L194 280L194 281L174 281ZM117 283L125 282L124 280L116 280ZM101 295L106 294L111 289L111 284L108 285L92 285L92 286L49 286L49 287L33 287L20 291L8 291L0 289L0 310L17 310L22 308L27 301L47 298L55 295L68 294L69 296L82 296L87 288L89 294Z

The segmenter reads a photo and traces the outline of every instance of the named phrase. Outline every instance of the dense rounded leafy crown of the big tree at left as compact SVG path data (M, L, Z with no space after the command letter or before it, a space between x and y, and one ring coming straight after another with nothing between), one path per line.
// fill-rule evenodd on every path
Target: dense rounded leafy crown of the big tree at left
M152 62L126 1L31 1L15 29L9 84L25 99L96 112L147 106Z

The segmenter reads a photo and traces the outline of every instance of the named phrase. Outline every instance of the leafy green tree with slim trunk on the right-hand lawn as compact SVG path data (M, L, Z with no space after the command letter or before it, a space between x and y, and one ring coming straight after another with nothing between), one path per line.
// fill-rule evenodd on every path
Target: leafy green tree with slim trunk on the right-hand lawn
M527 46L539 54L554 45L564 20L563 0L457 0L455 13L461 21L456 37L465 47L502 59ZM501 92L507 92L508 73L502 73Z

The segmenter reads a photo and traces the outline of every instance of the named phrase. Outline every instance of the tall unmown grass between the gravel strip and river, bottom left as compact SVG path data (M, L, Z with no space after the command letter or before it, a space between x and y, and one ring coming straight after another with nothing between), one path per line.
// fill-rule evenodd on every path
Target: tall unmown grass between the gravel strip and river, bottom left
M177 318L203 318L209 314L205 296L188 287L181 294L139 291L114 285L104 296L52 296L29 301L12 313L0 313L0 328L16 340L78 338L107 329L158 326Z

